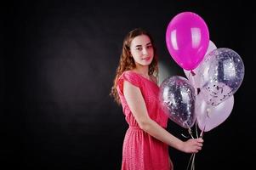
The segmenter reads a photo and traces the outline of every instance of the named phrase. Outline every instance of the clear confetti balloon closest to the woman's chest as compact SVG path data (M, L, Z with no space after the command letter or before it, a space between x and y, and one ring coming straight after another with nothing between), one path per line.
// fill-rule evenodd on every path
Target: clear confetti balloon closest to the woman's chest
M159 103L162 111L181 127L190 128L196 122L195 89L185 77L168 77L160 85Z

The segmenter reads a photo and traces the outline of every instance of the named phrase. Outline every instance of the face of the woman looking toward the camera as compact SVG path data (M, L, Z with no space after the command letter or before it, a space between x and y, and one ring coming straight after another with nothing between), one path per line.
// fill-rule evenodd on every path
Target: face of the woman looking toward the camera
M146 35L134 37L131 42L130 51L136 65L148 66L154 57L151 39Z

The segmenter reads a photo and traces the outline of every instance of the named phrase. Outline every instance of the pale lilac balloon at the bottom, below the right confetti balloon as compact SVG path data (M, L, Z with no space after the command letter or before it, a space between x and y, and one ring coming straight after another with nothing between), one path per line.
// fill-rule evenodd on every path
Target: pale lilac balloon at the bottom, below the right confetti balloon
M198 127L208 132L214 127L218 127L230 116L234 106L234 96L217 106L208 105L203 99L202 94L198 94L196 98L196 122Z

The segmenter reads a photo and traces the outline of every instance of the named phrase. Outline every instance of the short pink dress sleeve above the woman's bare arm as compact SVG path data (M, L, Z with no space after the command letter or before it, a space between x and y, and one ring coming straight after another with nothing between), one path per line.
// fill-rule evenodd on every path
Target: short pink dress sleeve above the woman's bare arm
M134 86L140 88L140 78L136 73L133 73L131 71L125 71L122 73L122 75L119 77L117 81L117 91L118 93L123 94L123 82L128 81L132 83Z

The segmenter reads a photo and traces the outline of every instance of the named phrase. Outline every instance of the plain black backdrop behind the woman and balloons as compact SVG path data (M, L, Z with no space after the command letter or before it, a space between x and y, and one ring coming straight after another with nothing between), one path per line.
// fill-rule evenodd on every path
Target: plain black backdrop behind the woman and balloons
M122 39L135 27L155 38L169 76L185 77L168 54L168 22L184 11L208 24L218 48L245 65L229 118L205 133L196 169L252 169L255 160L253 84L255 7L245 1L21 1L6 8L2 32L3 162L26 169L119 169L127 124L109 96ZM169 122L179 139L186 130ZM175 169L190 155L170 148Z

